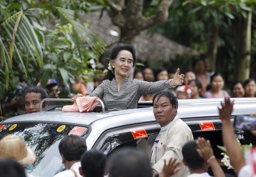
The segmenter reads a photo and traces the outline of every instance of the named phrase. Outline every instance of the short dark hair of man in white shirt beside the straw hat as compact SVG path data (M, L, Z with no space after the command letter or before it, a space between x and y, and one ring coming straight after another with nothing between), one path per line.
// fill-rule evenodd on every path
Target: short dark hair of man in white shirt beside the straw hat
M80 161L82 154L87 150L84 138L76 135L64 137L59 144L59 151L67 161Z

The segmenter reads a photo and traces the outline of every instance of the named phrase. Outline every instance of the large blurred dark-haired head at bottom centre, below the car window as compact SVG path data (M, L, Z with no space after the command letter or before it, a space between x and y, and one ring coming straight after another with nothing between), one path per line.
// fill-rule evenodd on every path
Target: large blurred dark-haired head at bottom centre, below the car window
M131 148L117 150L110 155L109 177L147 177L152 176L148 158L140 151Z

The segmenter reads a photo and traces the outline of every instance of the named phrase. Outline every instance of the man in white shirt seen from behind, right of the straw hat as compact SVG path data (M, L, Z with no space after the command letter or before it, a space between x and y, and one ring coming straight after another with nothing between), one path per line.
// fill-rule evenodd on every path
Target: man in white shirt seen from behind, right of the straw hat
M59 144L59 151L66 170L54 177L82 177L79 172L80 159L87 150L84 138L75 135L64 137Z

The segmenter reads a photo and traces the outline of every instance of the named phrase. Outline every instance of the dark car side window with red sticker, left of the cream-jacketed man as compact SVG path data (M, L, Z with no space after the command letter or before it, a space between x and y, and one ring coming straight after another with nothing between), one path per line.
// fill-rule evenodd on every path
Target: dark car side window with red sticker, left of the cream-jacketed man
M100 136L93 148L100 149L105 154L110 154L113 150L122 147L136 147L136 141L141 138L147 138L148 142L153 144L159 131L160 126L157 123L136 124L110 129Z

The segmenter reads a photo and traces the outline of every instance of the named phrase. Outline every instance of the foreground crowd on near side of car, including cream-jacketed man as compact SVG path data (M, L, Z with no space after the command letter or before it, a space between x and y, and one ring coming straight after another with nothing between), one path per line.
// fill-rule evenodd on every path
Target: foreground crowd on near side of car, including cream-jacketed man
M154 144L146 138L137 140L137 147L122 147L110 155L97 149L87 150L86 141L70 134L59 143L61 162L65 170L54 177L224 177L220 162L214 157L209 140L193 140L191 129L177 116L178 102L169 91L159 91L153 98L153 113L161 129ZM219 116L222 120L222 140L238 177L249 177L253 166L246 164L240 145L234 136L231 114L234 102L225 98ZM255 115L255 114L254 114ZM255 131L252 132L255 136ZM0 174L6 177L32 177L36 155L21 137L9 134L0 140Z

